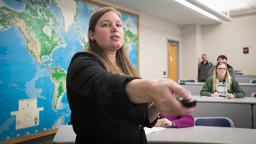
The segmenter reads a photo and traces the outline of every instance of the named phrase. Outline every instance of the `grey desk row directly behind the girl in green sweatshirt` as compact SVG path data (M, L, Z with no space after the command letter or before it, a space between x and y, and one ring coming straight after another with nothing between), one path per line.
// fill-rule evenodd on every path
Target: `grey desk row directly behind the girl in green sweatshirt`
M200 95L203 85L204 82L186 82L185 88L190 91L192 95ZM246 97L251 97L251 94L256 92L256 83L239 82L239 85L245 92Z

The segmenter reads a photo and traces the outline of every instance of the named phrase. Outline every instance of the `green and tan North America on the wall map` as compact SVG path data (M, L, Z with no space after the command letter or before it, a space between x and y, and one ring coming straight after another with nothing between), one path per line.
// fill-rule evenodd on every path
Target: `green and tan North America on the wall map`
M34 56L38 63L44 64L41 62L41 57L49 56L50 58L53 49L59 46L59 42L62 41L59 33L49 26L49 22L52 20L52 26L55 28L57 28L59 24L57 23L56 17L49 10L45 11L45 15L48 16L47 18L45 18L42 13L42 16L38 19L36 16L39 16L39 14L36 9L28 5L26 5L25 8L28 9L33 16L24 12L17 13L7 7L1 7L0 24L3 26L2 29L11 25L17 27L26 39L28 51ZM51 31L48 35L43 32L45 26L48 26Z

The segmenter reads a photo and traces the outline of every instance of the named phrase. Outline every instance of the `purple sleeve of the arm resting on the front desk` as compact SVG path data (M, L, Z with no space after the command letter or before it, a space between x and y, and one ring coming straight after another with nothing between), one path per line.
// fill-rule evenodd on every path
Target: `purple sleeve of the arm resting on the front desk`
M175 122L177 128L193 127L195 125L195 120L191 114L178 116L178 119L173 120L173 122Z

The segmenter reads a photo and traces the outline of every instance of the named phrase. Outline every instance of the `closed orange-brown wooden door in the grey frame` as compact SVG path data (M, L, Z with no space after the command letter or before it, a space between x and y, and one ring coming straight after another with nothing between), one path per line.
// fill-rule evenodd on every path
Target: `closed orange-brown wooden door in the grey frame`
M168 41L168 77L177 82L177 42Z

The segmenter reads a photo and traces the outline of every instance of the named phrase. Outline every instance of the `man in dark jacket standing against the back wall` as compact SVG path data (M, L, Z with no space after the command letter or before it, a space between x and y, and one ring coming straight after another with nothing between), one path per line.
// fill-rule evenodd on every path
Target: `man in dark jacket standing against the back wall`
M207 61L207 56L205 54L202 55L202 62L198 64L198 82L205 82L205 80L208 78L208 72L213 66L211 62Z

